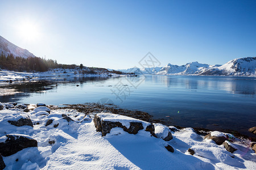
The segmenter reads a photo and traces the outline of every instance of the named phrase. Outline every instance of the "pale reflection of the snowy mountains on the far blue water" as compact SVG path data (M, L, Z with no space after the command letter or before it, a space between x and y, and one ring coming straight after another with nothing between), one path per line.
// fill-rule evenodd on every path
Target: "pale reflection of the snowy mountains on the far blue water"
M221 77L221 76L147 76L146 82L165 84L169 88L187 88L197 90L224 90L230 94L255 95L256 79L254 77Z

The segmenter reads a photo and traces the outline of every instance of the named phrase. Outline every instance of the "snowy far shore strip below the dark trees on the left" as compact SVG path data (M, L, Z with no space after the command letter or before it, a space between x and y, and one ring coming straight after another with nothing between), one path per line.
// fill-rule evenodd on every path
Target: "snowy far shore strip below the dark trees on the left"
M31 79L45 79L55 76L108 76L106 73L99 74L79 74L79 71L75 69L53 69L45 72L26 73L3 70L0 71L0 82L6 82L8 80L31 80ZM122 76L118 74L111 74L112 76Z

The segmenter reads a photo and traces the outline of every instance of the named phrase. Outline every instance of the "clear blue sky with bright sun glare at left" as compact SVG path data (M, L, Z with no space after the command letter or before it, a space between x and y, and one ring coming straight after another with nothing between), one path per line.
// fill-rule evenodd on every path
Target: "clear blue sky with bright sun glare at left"
M0 35L58 63L127 69L256 56L256 1L0 0Z

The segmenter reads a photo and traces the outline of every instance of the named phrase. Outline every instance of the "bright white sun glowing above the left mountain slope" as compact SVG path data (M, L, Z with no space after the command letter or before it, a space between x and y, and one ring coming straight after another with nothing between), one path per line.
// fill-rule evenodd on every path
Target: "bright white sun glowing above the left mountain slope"
M39 27L36 23L29 21L22 22L19 25L19 35L27 41L34 41L39 37Z

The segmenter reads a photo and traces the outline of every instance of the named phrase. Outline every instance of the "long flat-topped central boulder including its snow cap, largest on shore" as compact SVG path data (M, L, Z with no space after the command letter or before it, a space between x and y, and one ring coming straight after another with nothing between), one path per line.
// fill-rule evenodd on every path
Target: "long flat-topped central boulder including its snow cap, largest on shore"
M123 125L122 122L119 122L118 119L119 121L125 121L125 124L129 124L129 125L126 125L126 126L129 126L129 128L126 128L126 126ZM96 114L94 116L93 122L96 127L96 130L101 131L102 136L105 136L106 134L110 133L110 130L116 127L122 128L123 131L126 131L127 133L130 133L130 134L137 134L139 130L144 129L144 126L142 124L144 121L140 121L134 118L121 116L118 114L112 114L112 113ZM147 127L145 128L145 130L150 131L151 134L154 134L154 131L152 131L154 130L154 126L148 122L144 122L144 123L147 124Z

